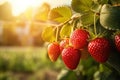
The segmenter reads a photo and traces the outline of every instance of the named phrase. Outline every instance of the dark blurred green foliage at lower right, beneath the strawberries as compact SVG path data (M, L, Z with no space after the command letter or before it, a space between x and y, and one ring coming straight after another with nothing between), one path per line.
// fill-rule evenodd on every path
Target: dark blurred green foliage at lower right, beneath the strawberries
M120 74L106 64L99 64L92 58L81 60L74 71L62 70L58 80L119 80Z

